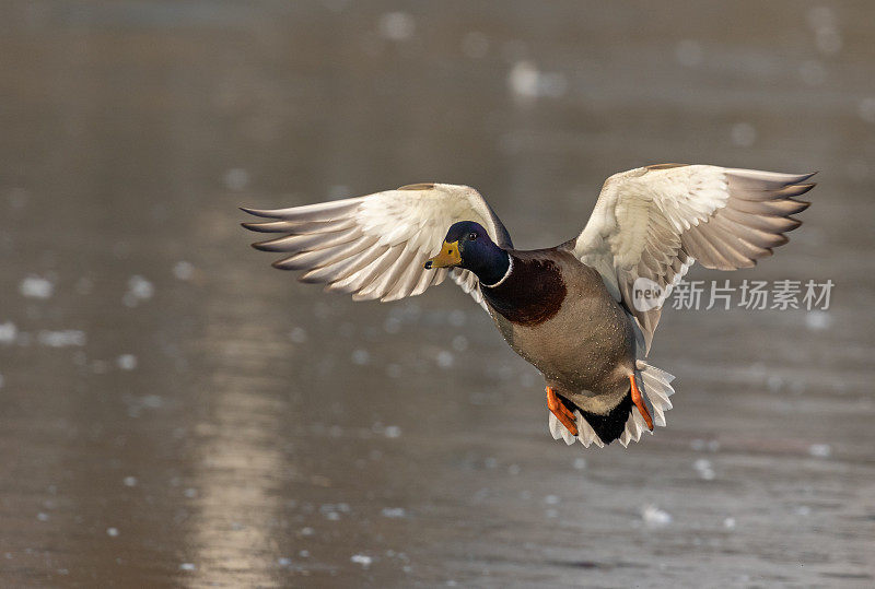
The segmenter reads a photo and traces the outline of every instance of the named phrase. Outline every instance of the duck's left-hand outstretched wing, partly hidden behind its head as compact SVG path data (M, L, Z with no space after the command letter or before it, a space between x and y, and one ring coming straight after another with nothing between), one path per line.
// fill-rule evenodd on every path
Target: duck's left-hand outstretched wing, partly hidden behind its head
M326 290L352 293L355 301L396 301L443 282L447 270L425 270L423 264L453 223L476 221L495 244L512 247L499 217L467 186L416 184L291 209L243 210L275 220L244 227L284 234L253 244L284 255L273 267L302 271L301 281L327 283ZM460 268L451 275L482 304L476 275Z

